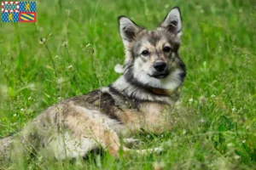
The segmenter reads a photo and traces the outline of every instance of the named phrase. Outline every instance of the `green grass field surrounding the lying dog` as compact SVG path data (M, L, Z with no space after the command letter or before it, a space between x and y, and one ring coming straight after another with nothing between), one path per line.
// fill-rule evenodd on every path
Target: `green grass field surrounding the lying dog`
M154 29L173 6L183 16L184 111L173 114L172 132L137 136L144 141L137 148L163 144L163 153L119 160L93 154L76 162L36 156L0 169L256 169L253 0L37 1L37 23L0 24L0 135L119 77L113 71L124 61L119 15Z

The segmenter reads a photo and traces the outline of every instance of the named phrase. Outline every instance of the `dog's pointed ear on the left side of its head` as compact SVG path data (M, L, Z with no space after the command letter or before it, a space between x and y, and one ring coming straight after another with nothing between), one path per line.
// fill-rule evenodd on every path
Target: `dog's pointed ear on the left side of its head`
M142 28L125 16L119 16L119 31L123 42L131 42Z

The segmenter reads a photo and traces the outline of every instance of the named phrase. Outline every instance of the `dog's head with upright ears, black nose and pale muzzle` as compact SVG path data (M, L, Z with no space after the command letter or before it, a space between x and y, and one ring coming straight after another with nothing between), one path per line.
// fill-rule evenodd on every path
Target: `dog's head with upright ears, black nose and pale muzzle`
M154 31L147 31L129 18L119 16L119 31L125 45L127 82L170 90L182 84L186 69L177 53L182 36L179 8L172 8Z

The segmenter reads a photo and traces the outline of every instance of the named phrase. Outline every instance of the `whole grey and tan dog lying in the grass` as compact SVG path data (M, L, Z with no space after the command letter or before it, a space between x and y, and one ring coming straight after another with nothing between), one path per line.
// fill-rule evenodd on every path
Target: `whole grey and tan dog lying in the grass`
M177 88L186 76L177 53L179 8L172 8L154 31L120 16L119 31L125 45L124 74L108 87L50 106L18 135L1 139L2 160L39 149L57 159L76 158L100 145L119 156L120 137L132 142L125 138L142 129L162 133L172 128L168 108L177 102Z

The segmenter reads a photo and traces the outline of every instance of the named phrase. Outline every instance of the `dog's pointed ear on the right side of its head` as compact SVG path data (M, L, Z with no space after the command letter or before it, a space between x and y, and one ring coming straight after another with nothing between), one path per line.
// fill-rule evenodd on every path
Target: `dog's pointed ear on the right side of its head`
M160 23L160 27L166 28L172 34L182 34L182 18L180 8L174 7L166 15L166 18Z

